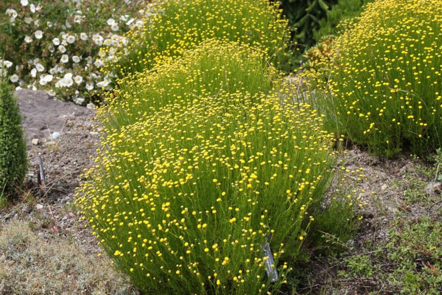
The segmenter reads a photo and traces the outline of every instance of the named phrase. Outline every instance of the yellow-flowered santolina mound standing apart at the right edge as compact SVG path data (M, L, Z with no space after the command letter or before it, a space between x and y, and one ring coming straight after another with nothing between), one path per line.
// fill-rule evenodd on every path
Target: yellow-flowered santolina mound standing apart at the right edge
M440 147L441 26L437 0L367 5L332 56L315 64L319 71L304 77L319 81L313 100L327 112L327 126L386 156Z

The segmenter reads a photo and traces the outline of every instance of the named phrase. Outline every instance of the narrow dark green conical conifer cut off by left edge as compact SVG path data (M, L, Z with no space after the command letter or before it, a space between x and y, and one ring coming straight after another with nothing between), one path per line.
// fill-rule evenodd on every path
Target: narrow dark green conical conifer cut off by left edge
M15 194L16 186L23 184L27 168L17 101L9 84L0 79L0 198Z

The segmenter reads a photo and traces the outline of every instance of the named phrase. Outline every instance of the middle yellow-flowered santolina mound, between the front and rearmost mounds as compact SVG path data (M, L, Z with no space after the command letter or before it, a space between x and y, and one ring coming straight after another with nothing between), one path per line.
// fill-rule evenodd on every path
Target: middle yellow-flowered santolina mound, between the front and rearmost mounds
M183 57L167 58L153 70L129 75L105 98L98 111L109 129L136 123L169 104L188 104L201 97L267 93L277 77L265 52L237 42L203 41Z

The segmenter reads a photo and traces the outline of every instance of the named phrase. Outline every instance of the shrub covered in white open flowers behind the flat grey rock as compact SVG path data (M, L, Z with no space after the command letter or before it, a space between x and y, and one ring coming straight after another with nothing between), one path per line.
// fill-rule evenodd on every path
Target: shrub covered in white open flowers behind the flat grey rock
M124 46L146 0L0 1L0 75L18 88L78 104L95 101L110 77L106 52Z

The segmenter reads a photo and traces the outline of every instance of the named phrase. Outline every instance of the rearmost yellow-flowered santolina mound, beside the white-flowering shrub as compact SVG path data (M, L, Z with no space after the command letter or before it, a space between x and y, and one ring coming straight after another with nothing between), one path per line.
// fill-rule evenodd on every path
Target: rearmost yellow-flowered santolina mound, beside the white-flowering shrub
M274 61L287 56L287 20L278 3L268 0L166 0L150 5L143 21L128 32L129 45L108 58L106 72L118 77L142 72L158 58L181 56L211 38L261 47Z

